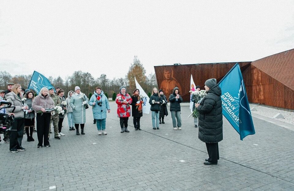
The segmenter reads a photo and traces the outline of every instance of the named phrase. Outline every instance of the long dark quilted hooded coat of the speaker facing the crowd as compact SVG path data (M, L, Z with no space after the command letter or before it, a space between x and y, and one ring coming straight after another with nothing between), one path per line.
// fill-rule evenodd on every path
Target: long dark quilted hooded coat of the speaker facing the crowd
M215 85L207 92L197 107L199 111L198 138L206 143L223 140L223 115L221 106L221 89Z

